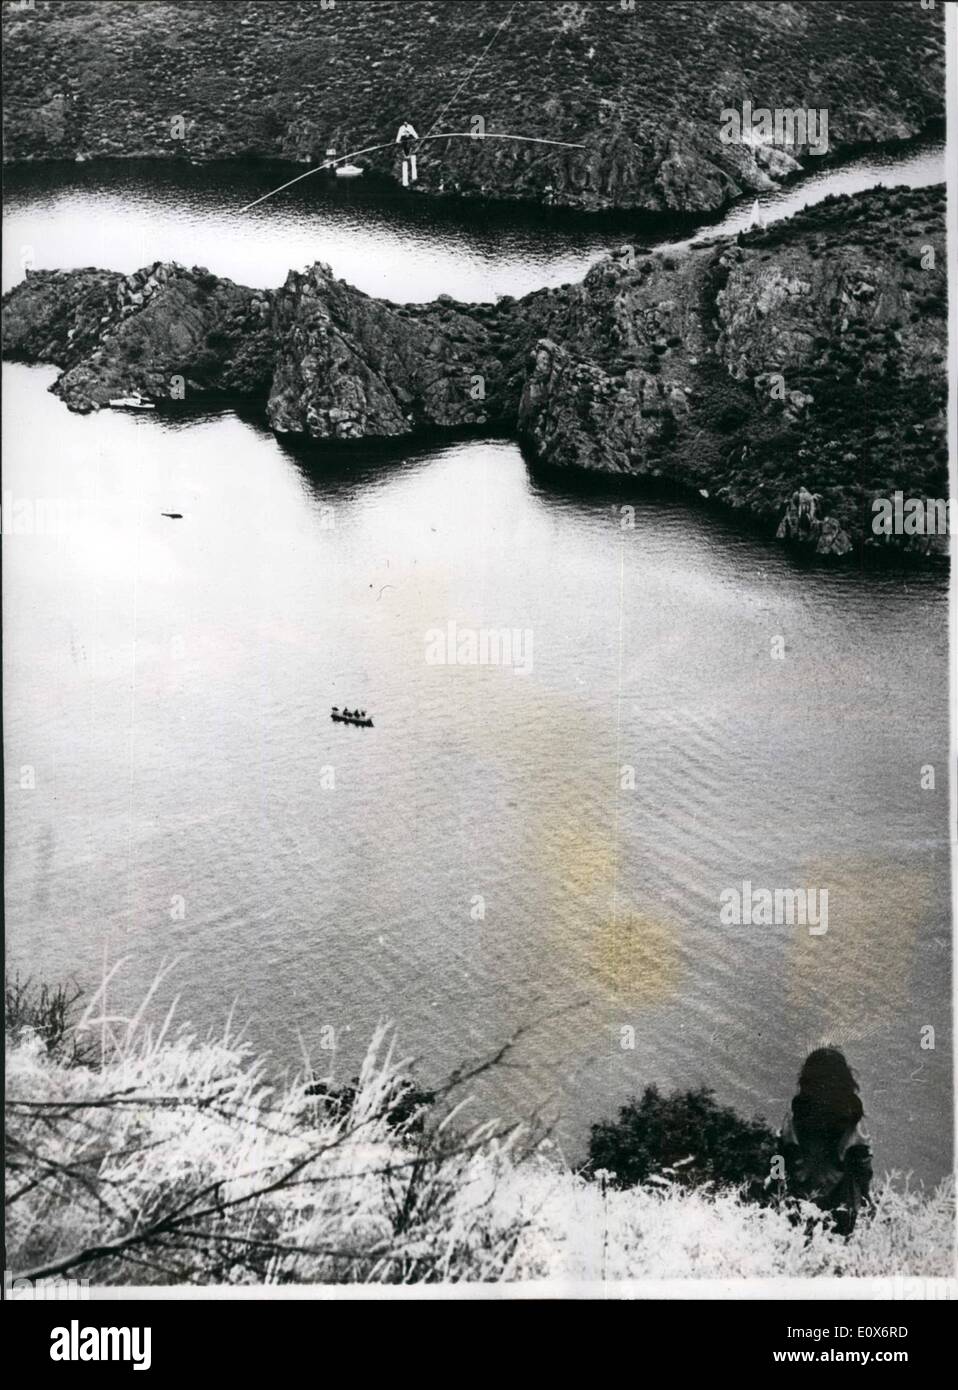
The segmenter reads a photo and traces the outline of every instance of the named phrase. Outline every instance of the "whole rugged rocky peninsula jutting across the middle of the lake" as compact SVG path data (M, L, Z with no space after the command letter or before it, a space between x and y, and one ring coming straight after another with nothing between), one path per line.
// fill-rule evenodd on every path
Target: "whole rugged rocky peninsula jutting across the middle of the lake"
M316 441L506 428L542 468L663 480L841 556L879 543L876 496L947 496L944 206L830 199L496 304L391 304L321 264L270 292L175 264L32 272L4 346L60 366L74 410L139 391L246 398Z

